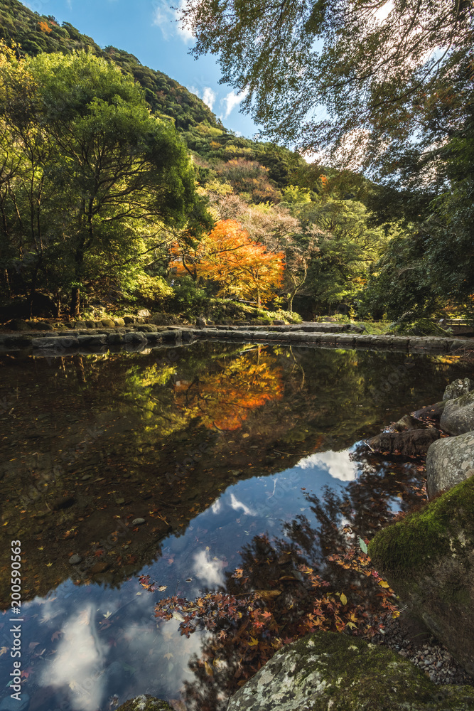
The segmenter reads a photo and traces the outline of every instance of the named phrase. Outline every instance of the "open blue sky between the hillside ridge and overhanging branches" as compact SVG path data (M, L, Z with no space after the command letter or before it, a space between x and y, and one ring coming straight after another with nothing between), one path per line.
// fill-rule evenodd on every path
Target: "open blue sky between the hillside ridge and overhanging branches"
M220 85L220 70L212 56L194 60L188 55L193 38L180 30L179 0L31 0L26 6L41 15L70 22L99 46L113 45L134 54L141 64L176 79L203 99L226 128L251 138L258 130L250 117L239 113L239 97Z

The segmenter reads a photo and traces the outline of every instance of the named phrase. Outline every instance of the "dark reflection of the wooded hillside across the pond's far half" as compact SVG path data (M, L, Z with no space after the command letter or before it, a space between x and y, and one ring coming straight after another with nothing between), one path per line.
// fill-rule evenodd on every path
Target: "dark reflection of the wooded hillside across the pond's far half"
M390 383L406 359L414 367ZM34 551L43 545L38 535L50 537L52 558L48 546L28 558L28 579L36 579L42 594L71 574L72 548L87 555L90 541L112 533L113 515L147 514L153 500L171 529L183 530L235 483L232 471L241 478L274 474L314 451L350 447L389 419L438 400L460 373L435 359L400 354L222 343L35 358L28 368L22 358L1 363L0 402L9 407L0 416L0 530L6 540L20 538ZM188 384L188 400L178 383ZM375 399L372 388L379 393ZM229 437L213 422L238 422L240 429ZM374 483L374 491L370 496L384 506L384 489ZM75 503L56 508L65 497ZM121 499L126 503L115 503ZM364 510L374 507L367 501ZM284 508L276 511L281 513ZM162 523L156 524L155 542L169 528ZM368 530L365 522L354 523ZM63 539L73 526L72 538ZM153 545L139 543L134 570L151 560ZM0 568L8 548L2 550ZM126 560L117 557L111 565L114 580L125 577ZM48 562L53 565L45 567Z

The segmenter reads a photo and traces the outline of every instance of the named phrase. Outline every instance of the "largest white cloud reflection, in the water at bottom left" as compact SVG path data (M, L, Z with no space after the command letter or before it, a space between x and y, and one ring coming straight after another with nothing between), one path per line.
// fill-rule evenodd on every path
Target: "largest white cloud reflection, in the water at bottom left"
M75 611L63 626L58 652L43 671L43 686L70 688L73 709L95 711L102 703L105 679L98 678L106 647L99 642L92 618L92 605Z

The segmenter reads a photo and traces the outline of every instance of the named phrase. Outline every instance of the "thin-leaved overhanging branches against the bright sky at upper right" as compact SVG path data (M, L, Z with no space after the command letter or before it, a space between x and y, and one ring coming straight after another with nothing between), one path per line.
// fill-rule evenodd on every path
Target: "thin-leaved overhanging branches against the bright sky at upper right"
M395 156L421 126L424 140L441 137L472 95L467 0L188 0L181 20L193 54L218 55L269 134L331 146L342 162L361 148L372 164Z

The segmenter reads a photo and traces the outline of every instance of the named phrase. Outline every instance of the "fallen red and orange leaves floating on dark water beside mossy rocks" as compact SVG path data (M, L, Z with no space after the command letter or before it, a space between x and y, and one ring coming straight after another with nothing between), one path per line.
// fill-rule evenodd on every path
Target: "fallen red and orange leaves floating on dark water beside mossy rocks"
M345 592L283 540L259 535L242 553L242 567L227 574L225 592L195 600L168 597L155 606L156 617L178 620L186 637L203 629L212 633L190 662L196 681L185 684L185 699L193 711L224 709L225 697L284 644L317 630L370 640L385 620L398 615L392 590L357 543L328 557L343 572ZM150 592L158 589L149 577L140 582Z

